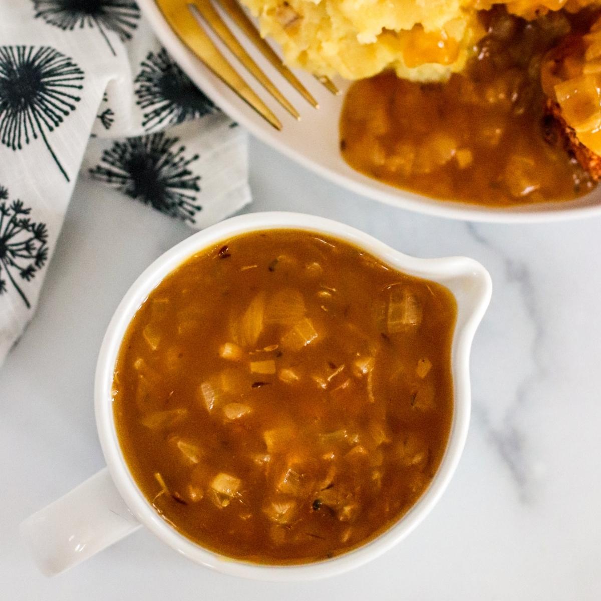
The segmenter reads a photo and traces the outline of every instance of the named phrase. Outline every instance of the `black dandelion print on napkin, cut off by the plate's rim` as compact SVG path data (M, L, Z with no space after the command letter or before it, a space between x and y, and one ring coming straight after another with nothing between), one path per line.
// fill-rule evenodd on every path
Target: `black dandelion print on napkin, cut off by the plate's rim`
M137 104L146 111L144 129L182 123L219 111L164 48L156 54L148 53L141 67L135 84Z

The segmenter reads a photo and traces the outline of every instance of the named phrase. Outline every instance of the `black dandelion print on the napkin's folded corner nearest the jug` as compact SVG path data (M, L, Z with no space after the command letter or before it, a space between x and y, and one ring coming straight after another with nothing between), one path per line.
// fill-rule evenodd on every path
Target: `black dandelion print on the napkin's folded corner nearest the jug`
M115 142L90 175L161 213L194 221L201 210L195 194L200 175L188 167L198 154L186 158L184 146L174 148L178 142L163 132Z

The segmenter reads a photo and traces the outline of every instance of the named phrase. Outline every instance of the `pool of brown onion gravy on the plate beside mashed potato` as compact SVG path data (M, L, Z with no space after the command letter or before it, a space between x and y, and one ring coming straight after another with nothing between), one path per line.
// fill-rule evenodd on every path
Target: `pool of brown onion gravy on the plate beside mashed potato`
M444 84L382 73L352 85L341 152L357 171L440 200L507 207L573 200L594 188L550 135L540 83L545 52L592 13L534 22L501 8L481 13L488 34L465 71Z

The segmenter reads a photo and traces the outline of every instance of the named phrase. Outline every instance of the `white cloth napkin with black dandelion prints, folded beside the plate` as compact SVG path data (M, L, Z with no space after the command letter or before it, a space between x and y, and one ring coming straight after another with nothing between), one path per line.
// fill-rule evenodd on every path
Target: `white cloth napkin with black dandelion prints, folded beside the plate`
M246 142L135 2L0 0L0 364L31 319L80 169L201 228L251 200Z

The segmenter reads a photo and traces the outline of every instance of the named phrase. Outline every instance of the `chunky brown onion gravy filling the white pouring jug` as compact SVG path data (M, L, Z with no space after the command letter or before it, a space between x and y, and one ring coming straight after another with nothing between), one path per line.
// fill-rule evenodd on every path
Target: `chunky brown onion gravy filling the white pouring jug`
M456 303L340 240L234 237L152 291L114 414L130 471L186 537L304 563L379 534L430 483L453 415Z

